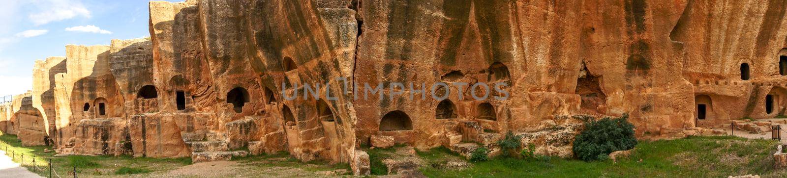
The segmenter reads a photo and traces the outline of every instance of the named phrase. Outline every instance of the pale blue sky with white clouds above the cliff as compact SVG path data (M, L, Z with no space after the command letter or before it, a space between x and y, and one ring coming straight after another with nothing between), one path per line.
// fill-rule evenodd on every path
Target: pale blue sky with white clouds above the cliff
M109 45L111 39L150 36L148 2L2 0L0 96L32 89L35 60L65 56L65 45Z

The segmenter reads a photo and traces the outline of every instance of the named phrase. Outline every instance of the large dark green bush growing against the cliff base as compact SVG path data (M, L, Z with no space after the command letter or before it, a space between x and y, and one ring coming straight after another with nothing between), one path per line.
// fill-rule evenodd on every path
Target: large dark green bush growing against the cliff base
M574 154L589 162L607 158L613 151L626 151L637 145L634 137L634 125L626 119L628 114L620 118L602 118L587 122L585 130L574 140Z

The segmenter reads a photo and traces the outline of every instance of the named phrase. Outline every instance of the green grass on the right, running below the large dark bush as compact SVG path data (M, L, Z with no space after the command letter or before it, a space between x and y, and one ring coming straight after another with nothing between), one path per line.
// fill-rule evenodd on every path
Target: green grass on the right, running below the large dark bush
M726 177L746 174L774 175L776 141L746 140L733 136L689 137L642 141L628 158L617 163L577 159L493 158L466 169L446 170L422 166L429 177ZM455 154L438 148L419 152L427 162L441 162Z

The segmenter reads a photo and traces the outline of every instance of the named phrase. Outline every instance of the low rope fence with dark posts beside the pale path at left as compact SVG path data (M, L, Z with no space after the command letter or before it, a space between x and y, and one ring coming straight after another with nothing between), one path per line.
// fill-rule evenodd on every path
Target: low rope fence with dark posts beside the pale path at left
M47 162L47 164L44 165L41 162L36 162L36 158L38 158L39 161L42 160L42 158L28 155L27 156L28 160L29 159L32 159L32 160L29 161L29 162L24 162L25 155L23 153L17 154L16 151L9 152L9 146L10 146L9 143L6 143L5 141L0 141L0 150L5 151L6 155L10 154L12 162L16 162L16 160L18 158L19 159L19 164L22 167L24 167L24 168L28 168L29 167L30 169L33 170L33 173L49 173L49 177L50 178L54 178L54 177L63 178L62 176L60 176L60 174L57 173L57 170L54 169L54 164L52 163L52 159L51 158L48 159L49 162ZM41 168L39 165L43 166L46 169ZM72 167L72 171L68 171L68 173L66 174L66 177L74 177L74 178L76 178L77 177L76 176L76 167Z

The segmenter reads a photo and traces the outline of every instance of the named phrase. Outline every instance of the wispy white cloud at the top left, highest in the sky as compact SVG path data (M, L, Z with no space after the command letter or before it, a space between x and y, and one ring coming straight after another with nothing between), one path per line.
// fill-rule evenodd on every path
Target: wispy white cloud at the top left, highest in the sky
M91 17L80 0L35 0L32 1L37 13L31 13L30 20L35 25L49 24L50 22L68 20L76 16Z

